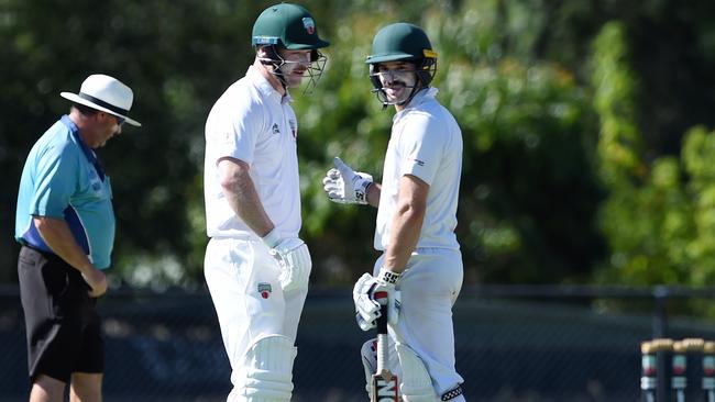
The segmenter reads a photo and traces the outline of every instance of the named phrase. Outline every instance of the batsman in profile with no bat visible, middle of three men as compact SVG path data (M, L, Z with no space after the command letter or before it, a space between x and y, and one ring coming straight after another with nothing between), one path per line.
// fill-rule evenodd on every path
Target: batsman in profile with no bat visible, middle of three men
M298 237L298 121L290 89L320 78L329 43L302 7L253 25L255 59L206 123L206 281L232 373L229 402L288 402L310 253Z

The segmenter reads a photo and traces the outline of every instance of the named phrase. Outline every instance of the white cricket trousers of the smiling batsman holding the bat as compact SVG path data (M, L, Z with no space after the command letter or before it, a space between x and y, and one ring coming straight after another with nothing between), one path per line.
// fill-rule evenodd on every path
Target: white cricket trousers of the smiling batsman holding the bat
M383 254L375 261L373 275L383 266ZM407 261L397 289L402 308L396 328L389 328L393 339L407 344L421 357L439 395L464 382L454 369L454 327L452 305L462 289L464 268L459 250L419 248ZM393 331L394 330L394 331ZM396 355L392 349L391 355ZM391 359L394 372L402 376L396 359ZM463 401L463 397L453 401Z

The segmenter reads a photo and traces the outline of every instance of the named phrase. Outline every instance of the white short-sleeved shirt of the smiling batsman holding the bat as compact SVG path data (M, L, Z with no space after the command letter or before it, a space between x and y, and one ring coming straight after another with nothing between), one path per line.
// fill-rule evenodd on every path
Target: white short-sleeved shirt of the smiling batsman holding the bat
M377 250L386 250L389 244L399 180L405 175L429 185L417 248L460 248L454 228L462 176L462 131L436 94L436 88L417 92L393 118L375 227Z

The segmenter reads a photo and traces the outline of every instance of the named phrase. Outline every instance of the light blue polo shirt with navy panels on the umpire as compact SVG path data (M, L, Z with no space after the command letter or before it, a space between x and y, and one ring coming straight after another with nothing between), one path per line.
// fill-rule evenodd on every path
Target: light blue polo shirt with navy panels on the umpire
M110 266L116 223L109 176L67 115L30 150L15 213L15 239L52 253L33 216L65 220L92 264L99 269Z

